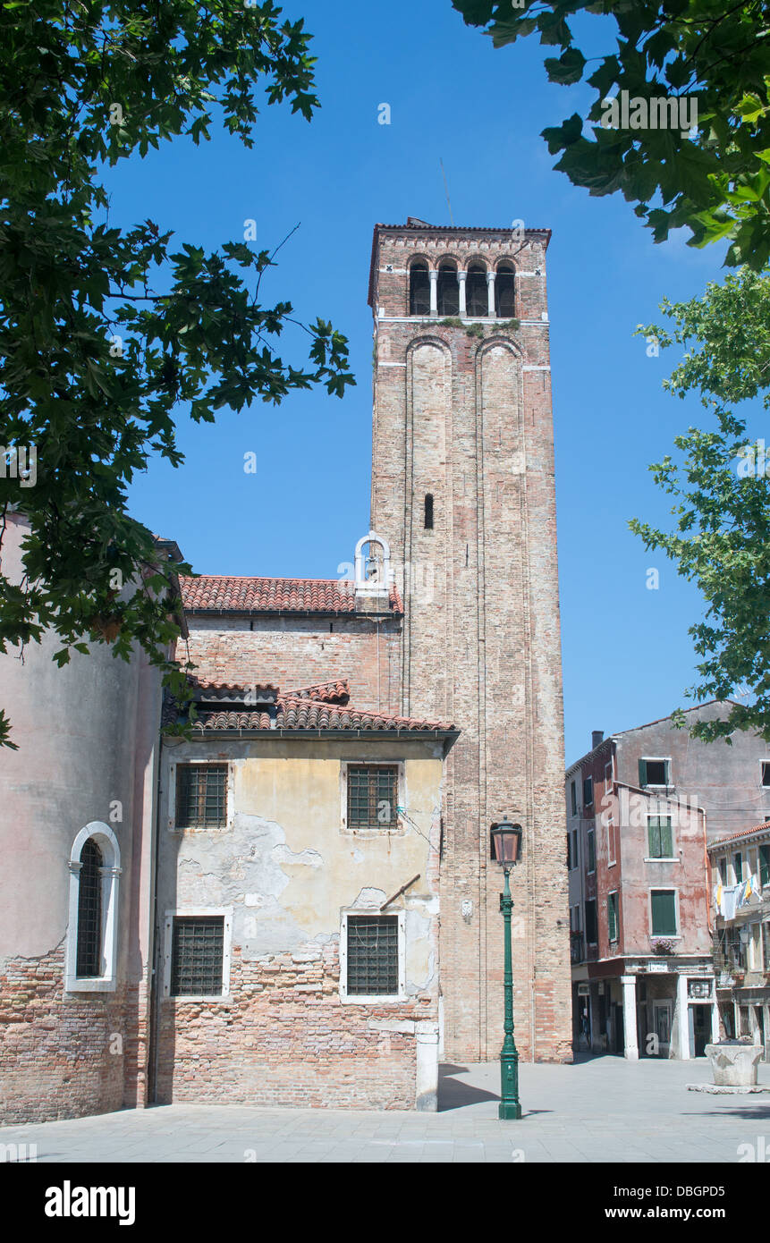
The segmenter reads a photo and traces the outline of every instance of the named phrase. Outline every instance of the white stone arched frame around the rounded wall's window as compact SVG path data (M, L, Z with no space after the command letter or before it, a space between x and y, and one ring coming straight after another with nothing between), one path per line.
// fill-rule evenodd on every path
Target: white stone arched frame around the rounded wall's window
M80 907L81 853L93 839L104 860L100 868L102 878L102 970L98 976L77 975L77 915ZM113 830L103 820L91 820L72 843L68 859L70 904L67 920L67 947L65 966L65 991L67 993L113 993L117 988L118 953L118 896L121 878L121 848Z

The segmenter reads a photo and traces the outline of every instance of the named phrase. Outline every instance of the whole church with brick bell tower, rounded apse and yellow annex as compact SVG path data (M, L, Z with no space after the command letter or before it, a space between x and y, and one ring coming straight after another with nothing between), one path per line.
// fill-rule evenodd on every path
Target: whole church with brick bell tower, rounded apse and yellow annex
M341 579L179 579L187 737L141 654L0 656L0 1120L435 1109L500 1052L504 818L516 1044L571 1060L549 239L374 227L369 531Z

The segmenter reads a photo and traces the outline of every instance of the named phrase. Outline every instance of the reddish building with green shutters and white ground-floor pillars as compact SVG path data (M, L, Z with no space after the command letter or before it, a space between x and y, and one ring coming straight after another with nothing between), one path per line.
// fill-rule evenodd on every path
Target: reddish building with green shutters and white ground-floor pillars
M687 717L728 711L712 702ZM761 738L704 743L670 717L596 731L567 769L576 1049L689 1058L724 1033L707 846L768 802L769 782Z

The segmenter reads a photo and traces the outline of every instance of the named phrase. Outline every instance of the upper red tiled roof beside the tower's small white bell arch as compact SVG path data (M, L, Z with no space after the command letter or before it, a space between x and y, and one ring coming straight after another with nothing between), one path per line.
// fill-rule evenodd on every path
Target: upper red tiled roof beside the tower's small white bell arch
M353 583L336 578L240 578L200 574L179 579L188 613L356 613ZM389 592L393 614L403 613L396 587Z

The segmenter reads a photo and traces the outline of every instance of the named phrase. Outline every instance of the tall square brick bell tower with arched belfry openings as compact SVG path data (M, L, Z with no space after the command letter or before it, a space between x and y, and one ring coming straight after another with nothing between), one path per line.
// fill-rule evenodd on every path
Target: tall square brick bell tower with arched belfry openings
M494 1059L503 1042L490 827L505 815L524 828L516 1044L572 1059L549 240L409 218L372 244L372 530L403 567L401 710L462 730L443 824L447 1060Z

